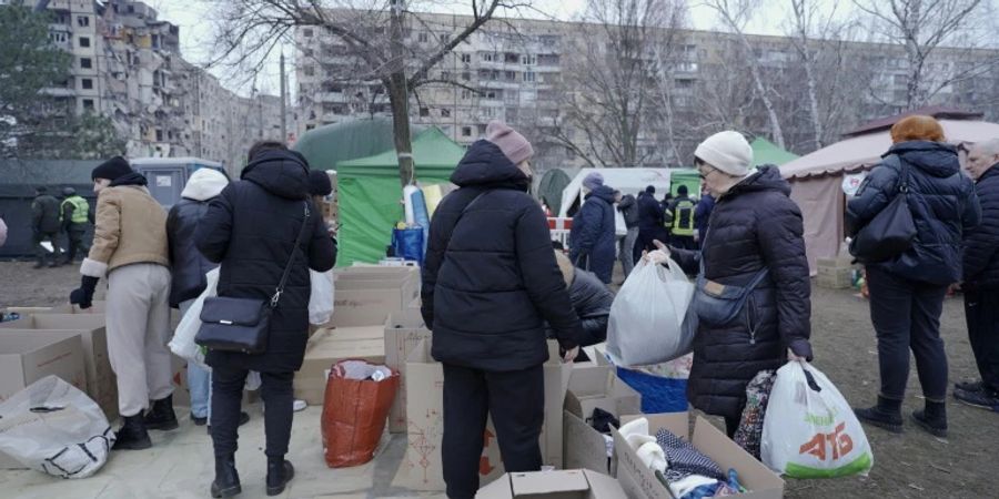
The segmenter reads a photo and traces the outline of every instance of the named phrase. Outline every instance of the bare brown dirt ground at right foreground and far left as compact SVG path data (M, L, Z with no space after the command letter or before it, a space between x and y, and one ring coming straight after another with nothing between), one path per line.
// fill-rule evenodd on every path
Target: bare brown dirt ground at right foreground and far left
M102 283L103 284L103 283ZM31 269L30 263L0 263L0 307L65 303L79 285L77 267ZM101 292L99 292L100 296ZM951 381L977 377L968 345L960 298L944 308L942 336ZM877 350L867 303L851 291L815 288L813 295L815 365L856 406L875 403L878 390ZM948 404L950 436L935 438L908 422L922 406L915 363L909 378L906 432L894 435L865 427L875 454L866 478L788 480L789 498L944 498L999 497L999 414ZM720 426L720 421L715 421Z

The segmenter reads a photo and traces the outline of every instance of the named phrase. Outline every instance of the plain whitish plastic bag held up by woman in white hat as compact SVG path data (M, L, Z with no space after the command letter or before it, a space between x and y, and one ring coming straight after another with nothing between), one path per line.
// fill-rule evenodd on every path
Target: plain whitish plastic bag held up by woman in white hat
M610 305L607 352L622 366L644 366L690 352L694 329L684 319L694 284L672 259L668 267L642 261Z

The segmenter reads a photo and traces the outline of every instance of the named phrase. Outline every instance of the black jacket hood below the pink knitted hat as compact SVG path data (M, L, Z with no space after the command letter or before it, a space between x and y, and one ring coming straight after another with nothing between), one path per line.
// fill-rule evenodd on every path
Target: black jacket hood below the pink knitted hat
M451 175L451 182L460 187L506 187L522 192L531 186L531 177L517 169L500 146L488 141L477 141L468 147Z

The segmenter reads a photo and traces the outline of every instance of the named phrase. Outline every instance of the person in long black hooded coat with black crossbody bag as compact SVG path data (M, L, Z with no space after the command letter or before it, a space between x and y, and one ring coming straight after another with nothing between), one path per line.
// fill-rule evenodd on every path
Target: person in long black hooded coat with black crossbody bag
M205 356L212 367L214 497L241 490L234 454L240 400L250 370L260 373L266 407L268 495L281 493L294 476L284 455L291 437L292 379L302 367L309 337L309 269L325 272L336 263L333 240L307 201L309 165L280 142L255 144L249 160L241 180L209 203L194 243L205 258L221 264L219 296L224 297L271 299L293 254L294 259L284 293L271 313L266 350L258 355L209 350ZM303 243L295 247L303 223L307 224Z

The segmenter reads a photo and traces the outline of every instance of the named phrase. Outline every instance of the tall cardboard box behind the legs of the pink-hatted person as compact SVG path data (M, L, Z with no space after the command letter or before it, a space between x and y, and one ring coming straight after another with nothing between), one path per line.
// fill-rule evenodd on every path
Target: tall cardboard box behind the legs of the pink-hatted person
M568 389L572 364L563 364L558 346L548 342L551 359L545 364L545 422L542 427L542 462L562 468L562 407ZM431 357L431 342L422 340L406 359L406 389L418 396L406 398L408 447L396 485L415 490L444 490L441 441L444 435L444 368ZM486 425L480 461L480 479L490 483L503 475L500 445L493 422Z

